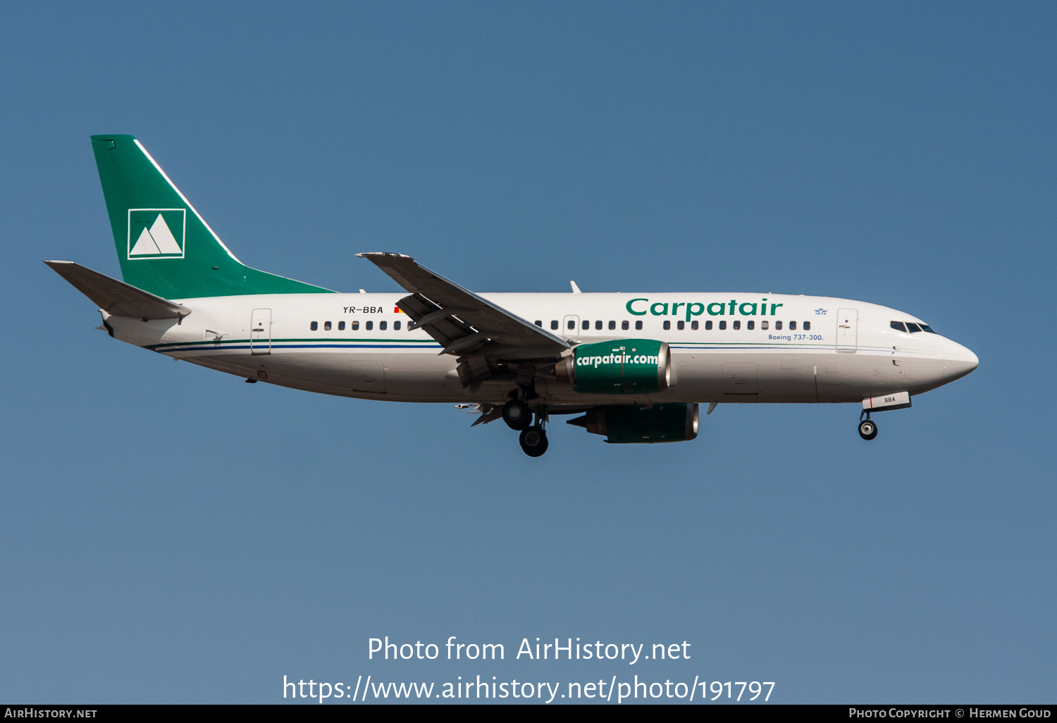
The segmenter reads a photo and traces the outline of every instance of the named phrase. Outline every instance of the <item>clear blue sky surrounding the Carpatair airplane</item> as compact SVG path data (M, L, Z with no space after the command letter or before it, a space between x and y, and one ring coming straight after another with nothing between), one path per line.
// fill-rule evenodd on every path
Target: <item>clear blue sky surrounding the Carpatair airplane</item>
M20 3L0 23L0 699L281 680L775 681L1053 702L1053 3ZM396 291L850 297L980 356L859 440L721 405L676 445L246 385L122 345L88 136L245 262ZM690 661L367 660L367 639L688 641Z

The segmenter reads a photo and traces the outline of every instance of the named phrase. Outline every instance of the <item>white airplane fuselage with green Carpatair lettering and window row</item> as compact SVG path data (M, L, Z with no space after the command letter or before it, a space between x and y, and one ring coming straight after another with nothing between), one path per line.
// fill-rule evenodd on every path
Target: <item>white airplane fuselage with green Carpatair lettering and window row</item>
M405 294L276 294L178 299L181 319L108 316L115 338L211 369L285 387L398 402L502 404L497 373L476 389L457 360L397 309ZM481 294L531 323L590 344L657 339L671 350L668 389L581 393L537 377L555 408L652 403L858 403L934 389L972 371L976 355L921 319L864 301L745 293ZM896 322L896 325L893 325ZM904 325L907 331L894 326Z

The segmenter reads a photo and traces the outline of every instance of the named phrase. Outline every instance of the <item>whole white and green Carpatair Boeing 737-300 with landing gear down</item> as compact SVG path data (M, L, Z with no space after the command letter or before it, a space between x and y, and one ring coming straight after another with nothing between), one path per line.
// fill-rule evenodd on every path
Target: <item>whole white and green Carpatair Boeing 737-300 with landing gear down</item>
M45 261L122 341L295 389L457 403L539 457L552 415L610 443L692 440L698 405L861 404L965 376L976 354L910 314L759 293L484 294L401 254L358 254L406 294L342 294L242 264L130 135L92 147L124 281ZM535 419L534 419L535 418Z

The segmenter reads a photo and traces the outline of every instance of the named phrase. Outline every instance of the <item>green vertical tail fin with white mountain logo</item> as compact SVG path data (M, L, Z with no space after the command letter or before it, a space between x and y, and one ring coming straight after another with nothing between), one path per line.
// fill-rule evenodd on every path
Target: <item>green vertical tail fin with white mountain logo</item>
M92 150L126 283L166 299L330 293L240 262L133 136Z

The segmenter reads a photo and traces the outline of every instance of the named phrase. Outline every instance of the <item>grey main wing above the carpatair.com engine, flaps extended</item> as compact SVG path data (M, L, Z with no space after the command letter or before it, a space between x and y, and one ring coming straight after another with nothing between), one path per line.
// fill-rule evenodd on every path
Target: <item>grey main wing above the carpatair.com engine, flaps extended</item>
M411 293L400 300L414 327L426 330L446 354L506 362L555 360L570 348L540 329L474 292L434 274L403 254L356 254L371 261Z

